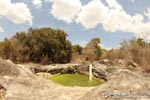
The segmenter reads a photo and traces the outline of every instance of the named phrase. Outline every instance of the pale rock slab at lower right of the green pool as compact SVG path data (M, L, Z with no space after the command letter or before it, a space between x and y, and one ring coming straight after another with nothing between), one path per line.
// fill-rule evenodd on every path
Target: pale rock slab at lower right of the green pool
M140 71L132 72L121 69L112 73L107 82L91 90L78 100L143 100L143 98L149 100L149 82L150 78L143 77ZM139 95L135 95L136 93Z

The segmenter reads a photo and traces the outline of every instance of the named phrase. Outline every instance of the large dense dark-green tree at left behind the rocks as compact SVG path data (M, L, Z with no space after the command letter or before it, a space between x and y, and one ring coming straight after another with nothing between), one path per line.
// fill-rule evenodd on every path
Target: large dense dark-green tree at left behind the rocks
M30 28L28 32L17 32L10 40L1 43L1 53L12 54L11 49L18 52L20 62L41 62L48 63L67 63L71 60L72 45L66 39L67 34L60 29L51 28ZM11 43L7 43L10 42ZM12 44L13 48L11 48ZM9 54L10 55L10 54ZM3 58L10 58L9 56Z

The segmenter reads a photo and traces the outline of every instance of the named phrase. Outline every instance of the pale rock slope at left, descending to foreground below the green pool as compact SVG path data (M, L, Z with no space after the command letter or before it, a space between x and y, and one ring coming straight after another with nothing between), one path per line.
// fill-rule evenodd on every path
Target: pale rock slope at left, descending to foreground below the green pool
M0 71L0 100L77 100L92 89L64 87L36 77L24 66L8 61L0 64L6 67Z

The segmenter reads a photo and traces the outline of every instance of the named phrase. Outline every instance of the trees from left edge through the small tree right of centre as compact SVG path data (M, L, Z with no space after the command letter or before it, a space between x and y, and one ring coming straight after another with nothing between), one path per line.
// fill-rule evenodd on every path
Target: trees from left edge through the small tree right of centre
M98 60L102 54L100 39L93 38L85 48L72 45L67 33L60 29L30 28L17 32L0 42L0 57L16 63L68 63L82 56L82 60ZM80 58L78 58L80 59Z

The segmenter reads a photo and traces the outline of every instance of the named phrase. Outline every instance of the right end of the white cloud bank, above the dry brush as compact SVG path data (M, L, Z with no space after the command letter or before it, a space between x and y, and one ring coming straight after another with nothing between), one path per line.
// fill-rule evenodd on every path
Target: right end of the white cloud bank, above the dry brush
M144 22L144 17L141 14L131 16L123 10L110 9L102 25L106 31L131 32L136 37L150 42L150 22Z

